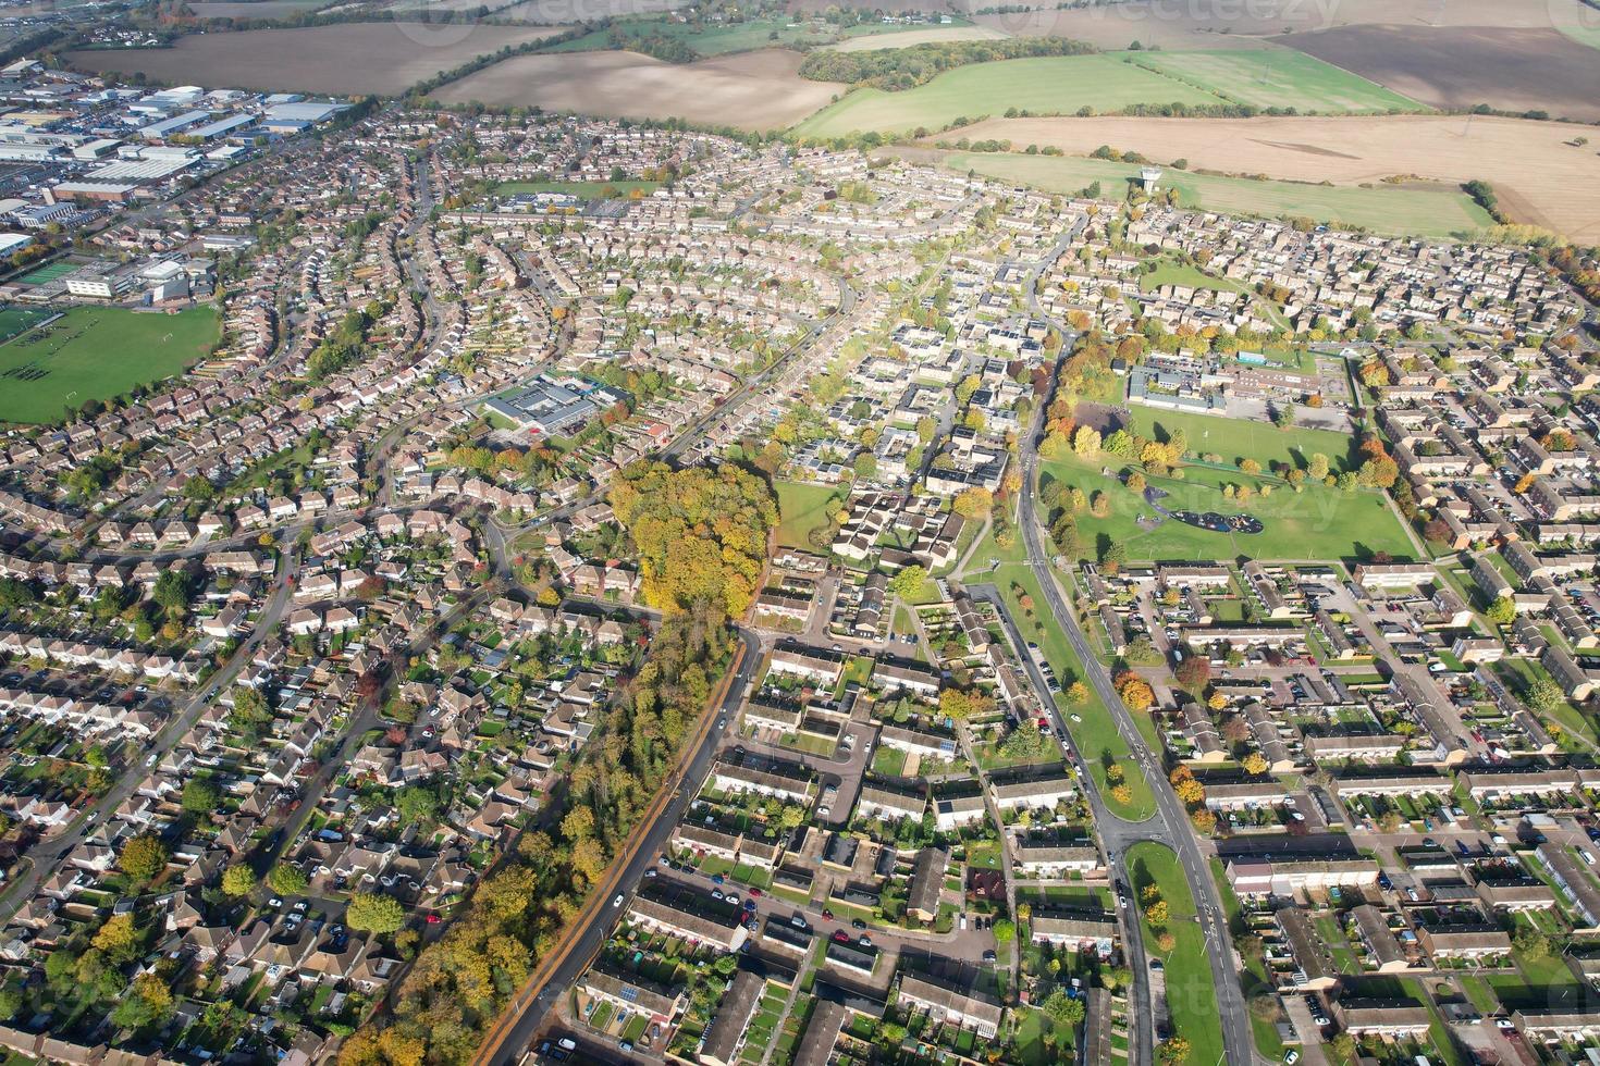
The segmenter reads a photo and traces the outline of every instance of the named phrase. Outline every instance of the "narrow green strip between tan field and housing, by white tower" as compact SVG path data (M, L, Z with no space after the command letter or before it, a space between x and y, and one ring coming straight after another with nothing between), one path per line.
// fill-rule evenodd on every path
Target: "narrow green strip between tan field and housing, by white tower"
M1128 181L1139 173L1136 163L1014 152L950 152L944 157L944 165L963 174L978 171L998 181L1034 185L1046 192L1077 193L1099 182L1102 195L1118 200ZM1262 217L1304 216L1315 222L1358 225L1374 233L1451 237L1493 225L1488 213L1461 192L1390 185L1373 189L1309 185L1214 177L1171 168L1163 173L1162 185L1176 189L1179 206L1184 208Z

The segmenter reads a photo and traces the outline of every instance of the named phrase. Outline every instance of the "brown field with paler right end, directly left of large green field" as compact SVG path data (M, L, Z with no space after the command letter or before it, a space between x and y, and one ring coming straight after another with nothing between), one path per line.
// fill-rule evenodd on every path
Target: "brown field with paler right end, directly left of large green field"
M800 54L774 48L670 64L632 51L514 56L440 88L445 104L539 105L618 118L670 118L741 129L789 126L845 86L798 77Z

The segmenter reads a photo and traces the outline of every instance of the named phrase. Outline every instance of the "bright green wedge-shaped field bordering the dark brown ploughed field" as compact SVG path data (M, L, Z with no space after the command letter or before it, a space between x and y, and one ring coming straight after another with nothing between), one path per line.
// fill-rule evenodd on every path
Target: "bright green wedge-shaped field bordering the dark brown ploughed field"
M1288 48L1259 51L1147 51L1134 59L1174 80L1256 107L1293 107L1322 113L1429 110L1376 82Z

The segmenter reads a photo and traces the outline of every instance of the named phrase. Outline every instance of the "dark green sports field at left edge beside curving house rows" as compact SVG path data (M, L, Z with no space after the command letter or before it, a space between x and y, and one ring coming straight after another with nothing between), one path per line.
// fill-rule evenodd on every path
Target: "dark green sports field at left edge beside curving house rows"
M178 315L74 307L0 345L0 422L59 422L69 403L109 400L181 372L219 336L213 307Z

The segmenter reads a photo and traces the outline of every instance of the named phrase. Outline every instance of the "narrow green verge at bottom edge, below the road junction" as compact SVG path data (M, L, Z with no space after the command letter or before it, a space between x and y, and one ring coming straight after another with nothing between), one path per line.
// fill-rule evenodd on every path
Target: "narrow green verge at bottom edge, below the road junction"
M1134 898L1144 885L1154 884L1166 900L1168 930L1176 940L1168 953L1155 948L1155 930L1144 919L1144 948L1166 965L1166 1007L1173 1018L1173 1031L1189 1040L1189 1061L1195 1066L1211 1066L1222 1061L1222 1024L1216 1005L1216 983L1211 978L1211 957L1206 954L1205 933L1195 919L1194 897L1189 882L1178 865L1178 855L1165 844L1144 841L1128 849L1128 869L1133 874Z

